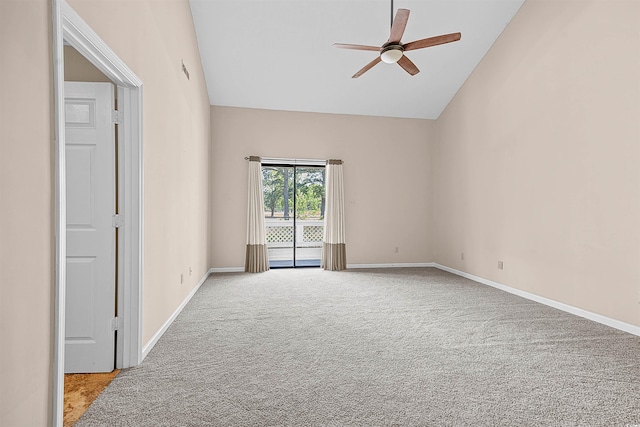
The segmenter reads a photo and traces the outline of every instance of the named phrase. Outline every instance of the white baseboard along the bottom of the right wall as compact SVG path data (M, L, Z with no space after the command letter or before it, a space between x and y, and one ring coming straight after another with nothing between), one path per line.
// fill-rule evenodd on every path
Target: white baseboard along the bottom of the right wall
M530 292L522 291L520 289L512 288L511 286L503 285L502 283L494 282L489 279L485 279L479 276L474 276L473 274L465 273L464 271L456 270L451 267L447 267L446 265L441 265L434 263L434 267L448 271L449 273L456 274L458 276L464 277L466 279L473 280L474 282L481 283L483 285L491 286L496 289L500 289L501 291L509 292L510 294L518 295L522 298L526 298L531 301L538 302L540 304L547 305L549 307L557 308L558 310L565 311L567 313L574 314L576 316L584 317L585 319L592 320L594 322L601 323L606 326L610 326L612 328L628 332L633 335L640 336L640 326L635 326L630 323L621 322L616 319L612 319L607 316L603 316L601 314L592 313L587 310L583 310L578 307L574 307L572 305L568 305L562 302L554 301L549 298L541 297L539 295L532 294Z

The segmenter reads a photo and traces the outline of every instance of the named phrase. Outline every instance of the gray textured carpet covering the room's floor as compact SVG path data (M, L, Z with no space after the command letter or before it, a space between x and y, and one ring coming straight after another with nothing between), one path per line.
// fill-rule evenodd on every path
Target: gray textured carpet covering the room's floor
M432 268L215 274L77 426L640 424L640 338Z

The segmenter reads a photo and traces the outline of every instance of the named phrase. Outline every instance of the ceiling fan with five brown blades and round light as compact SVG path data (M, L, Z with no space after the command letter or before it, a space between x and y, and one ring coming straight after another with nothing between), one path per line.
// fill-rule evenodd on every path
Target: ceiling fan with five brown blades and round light
M415 76L420 72L420 70L416 67L416 64L411 62L411 60L405 56L405 52L460 40L460 33L452 33L416 40L409 43L402 43L400 40L402 39L404 29L407 26L407 21L409 20L409 12L410 11L408 9L398 9L396 17L393 19L393 0L391 0L391 34L389 35L389 40L380 47L344 43L334 44L335 47L342 49L371 50L379 52L379 56L376 57L376 59L369 62L352 76L354 79L369 71L380 61L386 62L387 64L397 62L398 65L400 65L407 73Z

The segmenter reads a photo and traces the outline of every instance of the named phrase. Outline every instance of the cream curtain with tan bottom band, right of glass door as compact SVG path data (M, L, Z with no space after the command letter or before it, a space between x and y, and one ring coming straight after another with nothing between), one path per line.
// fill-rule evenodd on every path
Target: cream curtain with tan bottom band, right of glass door
M327 204L324 214L322 268L345 270L347 251L344 228L344 188L342 160L327 160Z

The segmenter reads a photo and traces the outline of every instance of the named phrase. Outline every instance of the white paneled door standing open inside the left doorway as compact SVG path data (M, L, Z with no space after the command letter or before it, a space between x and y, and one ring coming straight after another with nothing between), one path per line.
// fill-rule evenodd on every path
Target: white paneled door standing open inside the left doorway
M65 83L66 373L115 360L116 148L111 83Z

